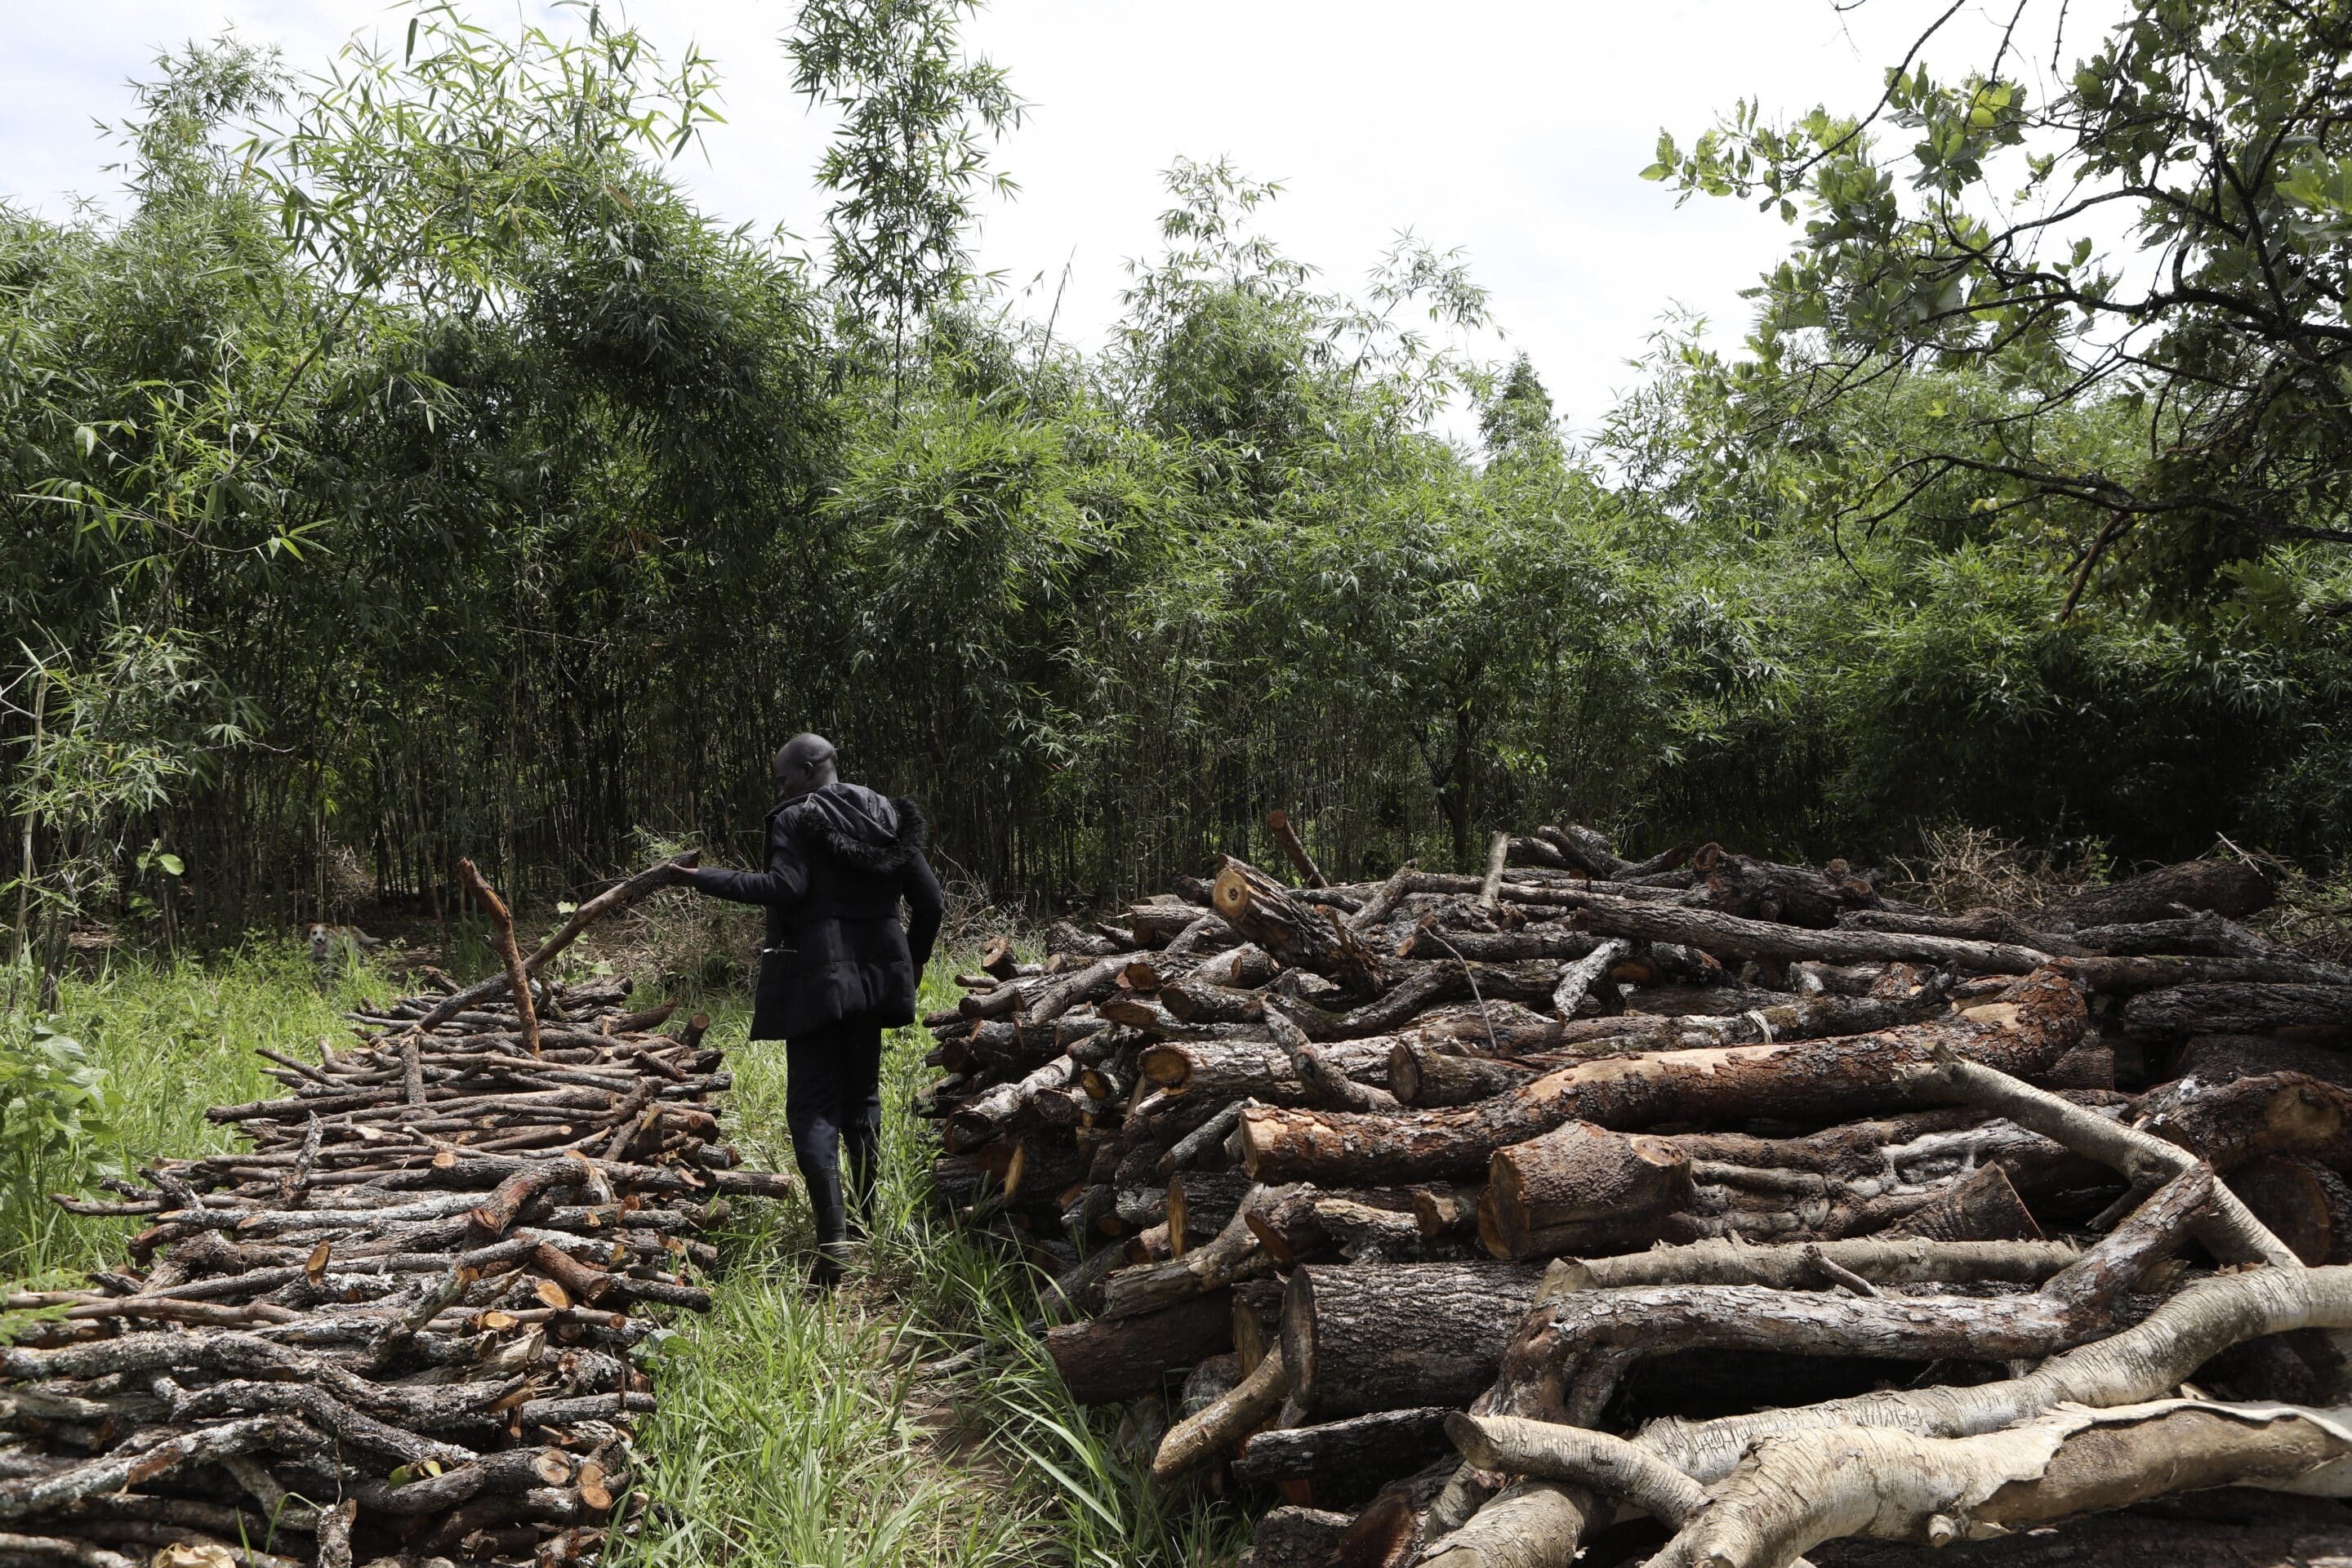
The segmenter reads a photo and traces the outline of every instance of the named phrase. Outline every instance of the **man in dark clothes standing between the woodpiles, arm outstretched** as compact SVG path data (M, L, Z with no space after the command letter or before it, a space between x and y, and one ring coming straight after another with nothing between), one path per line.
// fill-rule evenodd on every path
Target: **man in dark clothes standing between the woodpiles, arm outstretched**
M842 783L823 736L793 736L776 752L776 795L767 870L706 867L694 886L767 905L750 1037L783 1041L783 1117L816 1211L816 1281L830 1286L849 1239L842 1161L847 1208L863 1225L882 1133L882 1030L915 1023L943 903L922 858L922 811Z

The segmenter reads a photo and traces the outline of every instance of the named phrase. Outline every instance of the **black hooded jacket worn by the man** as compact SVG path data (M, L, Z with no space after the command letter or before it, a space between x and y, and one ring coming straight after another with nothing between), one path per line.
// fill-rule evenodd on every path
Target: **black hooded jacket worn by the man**
M767 813L767 870L694 872L713 898L767 905L753 1039L842 1018L915 1023L915 980L938 940L938 877L915 802L830 783ZM898 926L898 900L913 922Z

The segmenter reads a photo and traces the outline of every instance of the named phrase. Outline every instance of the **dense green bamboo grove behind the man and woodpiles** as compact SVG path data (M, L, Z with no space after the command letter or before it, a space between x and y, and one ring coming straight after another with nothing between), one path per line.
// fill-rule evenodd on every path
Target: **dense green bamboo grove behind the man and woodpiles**
M844 110L823 256L694 207L713 66L593 12L419 7L306 75L188 47L122 129L120 216L0 214L16 950L75 912L442 912L461 856L541 903L647 837L743 853L800 729L997 898L1157 886L1270 804L1350 877L1524 820L1632 853L2343 832L2328 529L2133 555L2154 522L2044 482L2145 465L2145 397L1783 310L1762 355L1670 322L1566 440L1538 367L1451 348L1494 324L1458 259L1334 287L1275 188L1195 162L1120 327L1070 346L971 273L1021 106L962 9L826 0L788 40ZM922 160L877 169L908 122ZM1818 395L1849 350L1886 374ZM2025 409L2032 484L1912 468L1839 527Z

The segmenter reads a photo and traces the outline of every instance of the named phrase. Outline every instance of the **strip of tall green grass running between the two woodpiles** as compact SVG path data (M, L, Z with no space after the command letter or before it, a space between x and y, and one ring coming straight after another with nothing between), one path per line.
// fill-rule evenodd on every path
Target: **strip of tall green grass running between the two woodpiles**
M955 994L953 969L924 976L927 1009ZM743 1032L739 1006L713 1025L734 1072L729 1133L790 1171L783 1051ZM715 1309L677 1324L654 1373L640 1448L661 1505L616 1561L1174 1568L1242 1547L1235 1512L1152 1488L1110 1422L1070 1401L1030 1331L1028 1265L931 1204L936 1135L910 1112L927 1044L889 1039L880 1222L837 1291L804 1284L797 1201L746 1206L722 1239ZM924 1380L922 1363L960 1352L967 1371Z

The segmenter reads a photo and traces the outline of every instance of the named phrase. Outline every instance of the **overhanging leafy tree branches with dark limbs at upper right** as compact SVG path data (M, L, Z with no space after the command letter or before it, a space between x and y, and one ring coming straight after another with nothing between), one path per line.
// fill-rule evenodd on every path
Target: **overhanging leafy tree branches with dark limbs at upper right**
M1691 148L1661 136L1646 179L1802 223L1757 292L1750 388L1804 421L1980 367L2009 397L1858 465L1842 515L1964 475L2065 520L2070 607L2103 574L2209 602L2277 543L2352 543L2352 16L2143 5L2046 101L2030 16L2063 28L2030 0L1943 80L1922 56L1947 12L1863 118L1743 103ZM2084 414L2119 437L2091 461L2060 435Z

